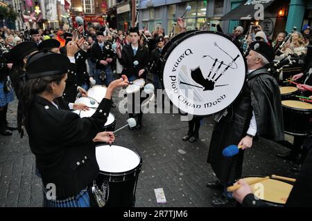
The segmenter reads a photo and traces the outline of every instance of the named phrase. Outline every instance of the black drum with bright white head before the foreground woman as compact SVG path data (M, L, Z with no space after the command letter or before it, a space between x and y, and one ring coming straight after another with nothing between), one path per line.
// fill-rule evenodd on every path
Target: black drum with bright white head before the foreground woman
M105 194L105 206L135 206L135 190L142 159L138 153L123 146L96 146L100 168L96 184Z

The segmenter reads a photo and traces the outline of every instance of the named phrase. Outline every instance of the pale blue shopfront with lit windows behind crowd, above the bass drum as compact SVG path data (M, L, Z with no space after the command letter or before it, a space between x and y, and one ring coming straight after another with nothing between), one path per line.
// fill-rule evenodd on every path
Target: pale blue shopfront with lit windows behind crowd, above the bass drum
M177 18L184 14L187 6L191 6L184 16L188 30L207 29L207 23L213 24L209 30L216 30L216 24L221 23L220 18L225 15L228 1L143 0L139 3L139 27L147 28L150 32L164 28L168 34L173 30Z

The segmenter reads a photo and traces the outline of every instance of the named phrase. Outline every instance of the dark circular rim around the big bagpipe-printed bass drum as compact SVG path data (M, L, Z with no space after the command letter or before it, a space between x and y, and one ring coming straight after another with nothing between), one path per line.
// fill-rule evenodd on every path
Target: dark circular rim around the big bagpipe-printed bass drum
M216 112L216 113L213 113L213 114L209 114L209 115L200 115L202 117L209 117L209 116L214 116L214 115L218 115L219 113L222 113L223 111L225 111L227 108L229 108L230 106L232 106L237 99L239 99L239 97L241 97L241 93L243 93L243 88L246 84L246 79L247 79L247 70L248 70L248 66L247 66L247 61L245 59L245 56L244 56L244 53L243 53L243 50L242 48L239 48L239 46L237 46L235 43L234 43L234 40L231 39L229 36L221 33L221 32L217 32L217 31L211 31L211 30L198 30L198 31L194 31L194 32L191 32L189 33L189 35L185 35L184 37L180 38L180 39L177 39L177 41L175 41L174 43L175 44L171 44L171 46L168 48L166 54L164 55L164 60L162 61L162 68L160 69L160 73L159 73L159 80L161 81L162 83L162 88L164 88L164 66L166 64L166 60L168 59L169 55L171 55L171 52L175 49L175 47L177 47L177 45L180 43L180 41L183 41L184 39L188 39L189 37L192 37L194 35L201 35L201 34L216 34L216 35L220 35L222 37L225 37L226 39L228 39L229 41L231 41L235 46L236 48L239 50L239 52L241 52L241 56L243 57L243 61L244 61L244 64L245 64L245 79L244 79L244 83L243 85L241 86L241 91L239 92L239 95L237 95L237 97L233 100L233 102L231 104L229 104L227 107L223 108L222 110ZM165 90L165 89L164 89ZM167 91L165 90L165 93L166 93L166 96L167 97L170 97L168 96L167 94ZM170 102L171 102L171 99L169 99ZM173 102L171 102L173 104ZM173 104L175 106L175 104ZM178 108L177 106L175 106L176 108ZM178 108L180 110L180 108Z

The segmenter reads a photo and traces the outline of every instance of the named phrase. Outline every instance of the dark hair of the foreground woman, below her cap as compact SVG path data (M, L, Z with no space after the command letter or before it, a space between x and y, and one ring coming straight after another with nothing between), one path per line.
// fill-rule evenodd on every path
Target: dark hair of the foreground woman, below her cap
M28 110L31 108L31 104L33 103L33 97L37 94L43 93L44 91L52 93L50 83L55 82L56 84L60 84L60 81L63 77L65 77L65 75L66 74L29 79L26 84L22 86L21 104L23 107L24 118L28 115Z

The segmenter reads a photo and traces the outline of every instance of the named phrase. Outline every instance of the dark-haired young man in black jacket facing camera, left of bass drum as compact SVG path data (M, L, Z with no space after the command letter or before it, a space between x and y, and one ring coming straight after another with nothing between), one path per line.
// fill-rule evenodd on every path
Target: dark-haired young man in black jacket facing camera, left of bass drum
M130 28L130 37L131 44L123 46L123 50L121 52L120 48L116 49L117 55L119 57L119 61L123 66L123 75L127 75L129 81L134 81L135 79L144 78L146 79L146 75L148 73L148 61L149 61L149 52L148 49L144 46L139 45L139 28L132 27ZM133 99L135 95L132 96ZM141 97L141 96L140 96ZM140 99L140 104L144 99ZM132 102L135 104L135 102ZM133 117L133 113L135 113L135 105L132 105L132 112L128 110L129 116ZM142 124L142 116L143 113L141 108L139 108L137 126L136 128L139 130Z

